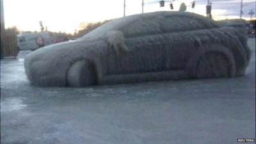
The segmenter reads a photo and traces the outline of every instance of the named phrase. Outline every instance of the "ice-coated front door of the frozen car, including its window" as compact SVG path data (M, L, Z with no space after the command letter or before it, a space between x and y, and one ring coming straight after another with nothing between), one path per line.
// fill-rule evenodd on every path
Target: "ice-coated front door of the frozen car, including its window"
M109 74L134 74L166 70L166 45L159 28L162 17L141 17L122 28L129 52L109 52Z

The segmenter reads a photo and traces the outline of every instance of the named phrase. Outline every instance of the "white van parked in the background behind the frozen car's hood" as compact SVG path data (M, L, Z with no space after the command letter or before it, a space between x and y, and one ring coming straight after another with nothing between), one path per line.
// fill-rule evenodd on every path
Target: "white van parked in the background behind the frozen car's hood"
M21 33L17 35L17 45L19 51L34 51L35 49L49 44L52 44L52 38L47 32Z

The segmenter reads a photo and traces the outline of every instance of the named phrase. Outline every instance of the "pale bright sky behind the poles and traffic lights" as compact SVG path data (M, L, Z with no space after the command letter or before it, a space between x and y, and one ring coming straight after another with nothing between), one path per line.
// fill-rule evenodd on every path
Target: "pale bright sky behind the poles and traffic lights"
M126 0L126 15L141 13L142 0ZM241 0L210 0L212 16L215 20L237 19L240 13ZM205 15L207 0L173 1L174 11L179 10L181 3L188 5L187 11ZM172 11L170 2L164 7L159 0L144 0L144 12ZM243 0L243 18L250 19L248 13L255 12L255 0ZM17 26L20 31L40 31L39 21L49 31L74 33L79 30L81 22L99 22L124 16L124 0L4 0L5 27ZM255 15L253 15L255 19Z

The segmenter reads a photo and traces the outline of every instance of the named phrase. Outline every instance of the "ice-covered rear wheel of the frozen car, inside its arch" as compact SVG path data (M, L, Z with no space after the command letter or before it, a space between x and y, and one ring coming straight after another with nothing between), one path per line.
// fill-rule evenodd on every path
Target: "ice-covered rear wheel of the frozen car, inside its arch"
M196 65L196 77L230 77L230 63L221 52L206 52Z

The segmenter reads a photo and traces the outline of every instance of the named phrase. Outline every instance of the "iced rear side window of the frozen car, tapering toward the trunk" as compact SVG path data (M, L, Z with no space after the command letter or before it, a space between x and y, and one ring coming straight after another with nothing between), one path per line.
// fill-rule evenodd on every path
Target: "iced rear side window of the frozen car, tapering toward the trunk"
M207 28L200 20L194 17L166 16L159 21L161 31L175 32Z

